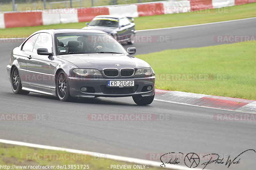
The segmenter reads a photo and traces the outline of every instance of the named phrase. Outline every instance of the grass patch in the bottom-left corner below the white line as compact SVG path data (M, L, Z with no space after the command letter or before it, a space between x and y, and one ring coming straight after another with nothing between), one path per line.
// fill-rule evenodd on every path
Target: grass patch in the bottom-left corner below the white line
M28 166L55 166L51 169L89 169L92 170L108 170L111 165L131 165L131 169L134 170L132 163L116 161L112 159L103 159L92 157L88 155L81 155L76 153L68 153L61 151L53 151L46 149L30 148L26 146L0 144L0 165L15 166L27 166L16 167L14 169L47 169L47 168L28 168ZM81 160L82 159L82 160ZM59 165L59 168L57 166ZM73 165L73 166L71 166ZM81 168L81 165L82 168ZM160 163L159 163L160 165ZM76 167L75 167L76 166ZM79 166L79 168L78 168ZM73 168L72 168L73 167ZM86 168L85 168L86 167ZM109 167L109 168L108 168ZM142 166L143 167L143 166ZM149 167L149 168L147 168ZM6 169L6 168L5 168ZM160 170L163 168L145 166L145 169Z

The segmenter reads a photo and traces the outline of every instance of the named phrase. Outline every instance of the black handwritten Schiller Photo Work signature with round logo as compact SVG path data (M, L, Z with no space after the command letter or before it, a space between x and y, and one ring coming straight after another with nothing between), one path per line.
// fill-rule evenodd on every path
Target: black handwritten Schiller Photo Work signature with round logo
M204 165L204 168L209 165L209 164L223 164L225 166L231 166L231 165L236 165L239 164L241 161L241 158L239 158L242 154L244 154L245 152L255 152L256 151L254 149L248 149L245 150L244 152L240 153L238 156L236 156L233 160L230 158L230 156L228 156L227 160L224 160L224 158L220 159L220 155L217 153L209 153L204 155L202 158L204 157L209 157L209 161L202 163L201 165ZM162 164L160 165L161 167L165 167L165 164L179 164L180 162L178 161L178 158L172 160L168 160L167 162L163 162L163 156L166 156L168 154L175 154L175 152L170 152L170 153L165 153L160 157L160 160L162 162ZM178 152L179 154L184 155L182 152ZM177 153L177 154L178 154ZM200 163L200 158L196 153L188 153L185 158L184 158L184 163L186 166L188 166L189 168L195 168L196 166L199 165ZM204 169L203 168L203 169Z

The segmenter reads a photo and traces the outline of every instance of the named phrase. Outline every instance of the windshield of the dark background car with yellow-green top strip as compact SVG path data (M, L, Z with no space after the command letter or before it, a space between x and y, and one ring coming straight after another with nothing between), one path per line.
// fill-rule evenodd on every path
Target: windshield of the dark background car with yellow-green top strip
M90 26L108 26L108 27L118 27L118 19L115 18L100 18L96 17L89 24Z

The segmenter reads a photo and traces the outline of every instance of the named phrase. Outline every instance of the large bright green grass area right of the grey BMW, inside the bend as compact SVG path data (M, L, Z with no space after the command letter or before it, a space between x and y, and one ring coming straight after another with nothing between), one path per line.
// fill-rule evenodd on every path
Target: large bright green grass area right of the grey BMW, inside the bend
M256 100L254 42L165 50L136 57L156 73L156 88Z

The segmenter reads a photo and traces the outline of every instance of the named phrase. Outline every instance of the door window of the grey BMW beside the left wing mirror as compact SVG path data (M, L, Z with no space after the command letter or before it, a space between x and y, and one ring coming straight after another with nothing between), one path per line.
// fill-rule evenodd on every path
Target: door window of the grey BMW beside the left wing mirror
M52 53L52 35L49 33L40 33L36 39L36 43L33 49L34 53L37 53L37 48L47 48L49 53Z

